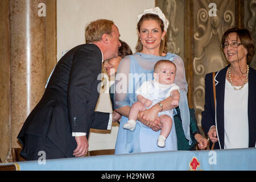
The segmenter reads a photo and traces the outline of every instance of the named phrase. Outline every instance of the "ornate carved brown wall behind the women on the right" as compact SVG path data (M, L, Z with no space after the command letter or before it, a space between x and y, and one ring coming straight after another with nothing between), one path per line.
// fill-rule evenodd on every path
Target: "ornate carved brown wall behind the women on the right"
M216 5L210 6L210 3ZM189 107L196 110L201 126L204 110L204 78L225 67L220 51L221 37L230 27L245 27L256 40L255 0L156 0L170 20L170 52L183 58L188 82ZM214 14L214 10L215 14ZM256 68L256 56L250 66Z

